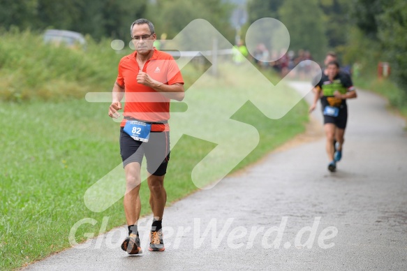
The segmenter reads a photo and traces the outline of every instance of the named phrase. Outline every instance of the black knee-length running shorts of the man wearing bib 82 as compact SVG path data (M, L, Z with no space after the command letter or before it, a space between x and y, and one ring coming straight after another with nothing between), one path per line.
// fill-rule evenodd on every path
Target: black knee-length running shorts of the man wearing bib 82
M149 142L134 140L120 128L120 155L123 167L128 163L142 163L145 156L148 173L163 176L170 160L170 132L151 132Z

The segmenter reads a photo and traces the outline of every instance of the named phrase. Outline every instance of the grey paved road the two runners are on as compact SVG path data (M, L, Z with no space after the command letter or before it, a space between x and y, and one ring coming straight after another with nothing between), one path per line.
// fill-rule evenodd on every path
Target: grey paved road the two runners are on
M168 207L163 253L144 237L127 256L123 227L27 270L407 270L407 133L385 106L364 91L349 102L334 174L319 136Z

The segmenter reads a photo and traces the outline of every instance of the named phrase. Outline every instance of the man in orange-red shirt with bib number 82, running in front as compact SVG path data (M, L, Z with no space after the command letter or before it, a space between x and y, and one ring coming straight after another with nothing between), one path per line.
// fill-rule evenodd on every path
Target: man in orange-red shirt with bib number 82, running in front
M170 159L170 99L182 101L184 80L170 54L156 50L154 25L145 19L131 24L135 52L119 62L112 90L109 116L119 117L121 99L126 93L124 119L120 128L120 154L126 175L124 212L128 237L121 249L141 254L137 222L140 217L140 167L147 160L149 203L154 215L150 233L150 251L164 251L162 219L167 194L164 177Z

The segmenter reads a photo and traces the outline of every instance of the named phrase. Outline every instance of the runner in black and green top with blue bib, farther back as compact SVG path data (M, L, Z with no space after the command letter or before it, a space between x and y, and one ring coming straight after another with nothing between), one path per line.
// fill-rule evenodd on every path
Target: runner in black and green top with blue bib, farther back
M356 97L356 90L350 76L339 71L338 62L328 63L326 73L323 73L322 78L316 84L316 92L309 112L315 110L320 98L327 136L326 149L330 159L328 170L331 172L336 170L336 162L340 161L342 157L343 136L348 121L346 99ZM334 140L336 140L336 147Z

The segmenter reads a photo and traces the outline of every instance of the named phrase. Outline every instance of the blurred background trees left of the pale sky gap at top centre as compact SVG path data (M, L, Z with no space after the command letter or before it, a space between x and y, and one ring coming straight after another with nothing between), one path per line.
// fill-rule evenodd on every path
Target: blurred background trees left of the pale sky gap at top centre
M92 38L130 38L131 23L147 17L161 33L175 36L196 18L210 21L232 38L232 5L223 0L0 0L0 27L66 29ZM159 35L158 35L159 37Z

